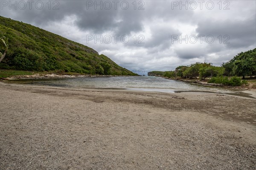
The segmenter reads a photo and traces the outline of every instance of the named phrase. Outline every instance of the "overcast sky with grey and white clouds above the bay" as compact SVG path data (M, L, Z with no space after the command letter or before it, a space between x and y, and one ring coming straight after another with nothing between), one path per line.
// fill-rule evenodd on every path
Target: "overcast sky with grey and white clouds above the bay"
M255 0L1 0L0 15L80 42L145 73L193 62L221 65L256 48Z

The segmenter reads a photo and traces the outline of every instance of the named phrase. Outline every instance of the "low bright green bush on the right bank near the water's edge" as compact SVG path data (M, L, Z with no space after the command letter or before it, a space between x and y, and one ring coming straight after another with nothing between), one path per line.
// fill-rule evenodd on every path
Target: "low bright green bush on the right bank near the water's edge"
M223 76L212 77L212 79L210 79L208 83L216 83L216 84L223 84L223 85L229 85L229 86L241 86L242 84L247 85L247 81L246 80L241 81L241 78L239 77L232 77L231 79L228 79L227 77L223 77Z

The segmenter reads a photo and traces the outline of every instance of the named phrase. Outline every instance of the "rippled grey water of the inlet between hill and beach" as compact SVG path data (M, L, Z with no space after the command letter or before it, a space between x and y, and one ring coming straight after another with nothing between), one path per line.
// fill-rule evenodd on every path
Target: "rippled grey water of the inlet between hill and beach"
M248 96L239 90L207 87L202 85L192 85L180 81L164 79L161 77L75 77L61 79L20 79L12 80L10 83L54 86L64 88L117 88L138 91L160 91L167 93L179 93L184 91L208 92L219 94L232 94L238 96ZM248 96L250 97L250 96Z

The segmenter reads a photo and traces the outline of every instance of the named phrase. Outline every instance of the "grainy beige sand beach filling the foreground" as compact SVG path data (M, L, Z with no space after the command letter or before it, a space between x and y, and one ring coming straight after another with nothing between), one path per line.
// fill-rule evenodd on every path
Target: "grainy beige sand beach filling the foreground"
M224 94L0 82L0 169L253 170L255 110Z

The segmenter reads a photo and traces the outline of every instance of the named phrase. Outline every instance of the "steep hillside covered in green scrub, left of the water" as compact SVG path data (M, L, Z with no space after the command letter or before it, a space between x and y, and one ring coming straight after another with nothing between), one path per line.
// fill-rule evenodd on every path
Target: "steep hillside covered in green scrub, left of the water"
M8 38L8 51L0 63L0 69L137 75L120 67L107 56L99 55L92 48L0 16L0 37L3 36Z

